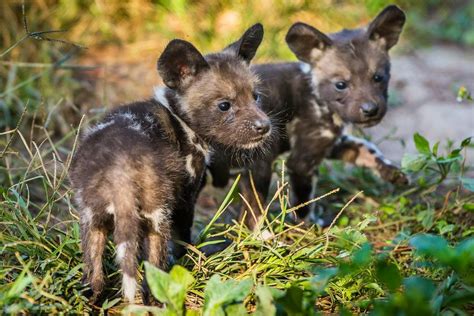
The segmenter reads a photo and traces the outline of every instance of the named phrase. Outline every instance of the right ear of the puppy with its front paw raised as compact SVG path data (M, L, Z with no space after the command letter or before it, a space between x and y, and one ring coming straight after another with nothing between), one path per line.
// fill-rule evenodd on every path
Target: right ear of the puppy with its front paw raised
M377 41L386 50L398 42L403 25L405 13L396 5L389 5L369 24L367 34L369 39Z

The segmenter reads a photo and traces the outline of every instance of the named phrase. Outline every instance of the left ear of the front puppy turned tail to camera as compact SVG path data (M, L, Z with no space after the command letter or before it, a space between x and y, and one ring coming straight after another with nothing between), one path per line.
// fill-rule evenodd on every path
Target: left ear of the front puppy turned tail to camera
M200 71L209 68L201 53L189 42L169 42L158 59L158 73L170 89L182 90Z

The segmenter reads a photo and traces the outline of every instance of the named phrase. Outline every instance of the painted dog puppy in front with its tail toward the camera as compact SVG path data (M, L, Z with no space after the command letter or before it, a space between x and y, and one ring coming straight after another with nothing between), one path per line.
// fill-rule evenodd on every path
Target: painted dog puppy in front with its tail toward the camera
M156 90L154 99L112 111L85 135L70 177L93 299L104 285L109 233L123 295L133 302L137 257L165 268L170 235L191 242L212 146L252 148L271 133L256 100L258 78L249 68L262 38L263 27L256 24L222 52L206 56L186 41L171 41L158 60L167 87Z

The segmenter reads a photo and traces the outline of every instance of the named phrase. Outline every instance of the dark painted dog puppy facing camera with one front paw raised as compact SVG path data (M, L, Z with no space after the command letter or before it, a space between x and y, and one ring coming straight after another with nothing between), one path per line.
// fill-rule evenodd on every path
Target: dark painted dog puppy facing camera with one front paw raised
M253 211L245 217L249 227L260 217L249 171L260 200L265 201L272 162L286 151L290 151L287 166L294 205L311 199L314 168L324 158L372 168L394 183L406 181L373 144L343 135L347 123L368 127L384 117L390 79L388 51L397 43L404 22L403 11L391 5L364 28L330 35L296 23L286 41L302 62L253 67L261 79L262 109L272 117L277 141L265 159L254 159L241 179L242 194ZM213 183L223 186L229 176L229 158L213 158ZM235 166L235 162L230 164ZM309 210L309 206L299 209L298 217L304 218Z

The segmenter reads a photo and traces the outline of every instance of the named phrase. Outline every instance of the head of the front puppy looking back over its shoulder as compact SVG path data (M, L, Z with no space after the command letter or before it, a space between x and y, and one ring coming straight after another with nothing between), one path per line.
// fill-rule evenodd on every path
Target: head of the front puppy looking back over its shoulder
M270 134L258 78L249 67L262 39L263 27L256 24L219 53L203 56L192 44L173 40L159 58L158 72L176 91L179 110L207 141L253 148Z

